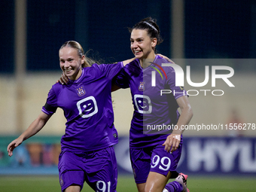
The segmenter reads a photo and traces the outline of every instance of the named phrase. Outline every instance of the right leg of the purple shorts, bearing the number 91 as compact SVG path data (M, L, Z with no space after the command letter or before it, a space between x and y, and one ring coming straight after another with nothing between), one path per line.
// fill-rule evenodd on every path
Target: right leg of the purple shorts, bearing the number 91
M109 147L94 151L93 157L87 160L87 184L96 191L113 192L117 187L117 160L114 148Z

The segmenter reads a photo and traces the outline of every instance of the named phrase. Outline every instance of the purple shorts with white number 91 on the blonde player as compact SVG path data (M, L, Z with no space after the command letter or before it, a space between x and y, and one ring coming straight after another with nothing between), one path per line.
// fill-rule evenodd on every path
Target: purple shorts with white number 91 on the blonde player
M99 151L61 152L58 168L62 191L72 184L82 189L84 181L95 191L116 191L117 160L113 146Z

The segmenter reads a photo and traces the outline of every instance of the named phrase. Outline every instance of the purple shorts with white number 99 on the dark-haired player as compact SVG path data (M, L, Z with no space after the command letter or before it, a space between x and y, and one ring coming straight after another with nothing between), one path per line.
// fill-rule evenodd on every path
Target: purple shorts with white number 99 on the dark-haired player
M181 158L181 149L182 143L172 154L164 151L164 146L161 144L148 148L130 148L136 184L145 183L149 172L158 172L166 176L168 172L175 171Z

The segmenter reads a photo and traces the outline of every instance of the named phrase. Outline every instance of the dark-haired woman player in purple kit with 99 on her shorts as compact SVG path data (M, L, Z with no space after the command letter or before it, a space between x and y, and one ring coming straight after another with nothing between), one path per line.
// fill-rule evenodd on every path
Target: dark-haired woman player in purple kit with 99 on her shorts
M156 46L162 42L156 21L148 17L136 23L130 32L136 59L123 67L116 84L130 87L133 97L130 158L137 188L139 192L189 191L187 175L182 173L166 184L181 157L182 125L193 116L187 93L183 87L175 86L174 69L162 66L168 61L156 55ZM161 90L172 93L161 94Z

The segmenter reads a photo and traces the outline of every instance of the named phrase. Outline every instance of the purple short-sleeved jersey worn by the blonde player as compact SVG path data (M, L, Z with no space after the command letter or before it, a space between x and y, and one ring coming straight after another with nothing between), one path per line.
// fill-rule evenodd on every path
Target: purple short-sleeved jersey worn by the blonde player
M123 62L93 64L82 70L78 80L53 85L42 111L53 114L58 107L64 111L62 151L96 151L117 144L111 80L122 68Z

